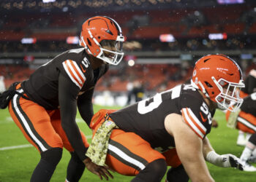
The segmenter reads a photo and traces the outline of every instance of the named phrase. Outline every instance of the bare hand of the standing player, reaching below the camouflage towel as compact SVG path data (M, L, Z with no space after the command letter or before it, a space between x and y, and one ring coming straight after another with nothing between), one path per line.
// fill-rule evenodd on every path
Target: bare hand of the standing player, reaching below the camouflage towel
M94 173L95 175L98 175L99 178L102 180L102 176L108 181L108 176L110 178L114 178L113 175L108 171L111 170L108 166L99 166L94 164L94 162L91 162L90 158L87 158L83 160L83 163L86 165L86 168L91 171L91 173ZM113 171L113 170L111 170Z

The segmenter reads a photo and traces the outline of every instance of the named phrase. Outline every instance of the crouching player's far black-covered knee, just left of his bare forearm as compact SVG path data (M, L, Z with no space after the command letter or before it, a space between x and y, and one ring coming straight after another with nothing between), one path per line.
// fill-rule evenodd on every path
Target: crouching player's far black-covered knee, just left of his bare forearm
M183 165L179 165L178 167L171 167L170 170L167 171L166 179L167 182L188 182L189 176Z

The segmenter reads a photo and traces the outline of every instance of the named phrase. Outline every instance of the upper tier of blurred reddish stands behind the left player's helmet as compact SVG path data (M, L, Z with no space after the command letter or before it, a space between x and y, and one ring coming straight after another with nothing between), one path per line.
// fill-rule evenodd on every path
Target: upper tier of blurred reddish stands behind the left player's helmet
M152 9L105 12L122 27L127 41L140 47L127 51L154 50L228 50L255 47L256 9L243 4L203 9ZM79 36L80 26L94 13L25 13L7 14L0 21L1 52L60 52L70 47L67 36ZM20 18L22 16L22 18ZM159 35L171 33L173 42L159 41ZM225 33L224 40L210 40L209 33ZM36 44L21 44L24 37Z

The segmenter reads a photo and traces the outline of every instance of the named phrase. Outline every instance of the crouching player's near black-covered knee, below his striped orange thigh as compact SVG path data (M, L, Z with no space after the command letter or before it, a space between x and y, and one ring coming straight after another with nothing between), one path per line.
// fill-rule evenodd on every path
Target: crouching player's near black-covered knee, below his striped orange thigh
M146 165L144 170L141 170L132 182L157 182L161 181L167 170L165 159L157 159Z

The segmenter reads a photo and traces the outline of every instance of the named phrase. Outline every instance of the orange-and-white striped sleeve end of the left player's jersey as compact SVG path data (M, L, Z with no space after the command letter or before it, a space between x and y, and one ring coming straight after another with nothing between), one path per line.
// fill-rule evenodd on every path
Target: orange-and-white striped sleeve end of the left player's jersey
M65 60L62 66L65 74L67 74L73 84L81 89L84 82L86 82L86 70L84 70L83 67L80 68L75 60Z

